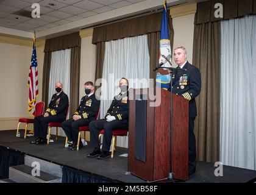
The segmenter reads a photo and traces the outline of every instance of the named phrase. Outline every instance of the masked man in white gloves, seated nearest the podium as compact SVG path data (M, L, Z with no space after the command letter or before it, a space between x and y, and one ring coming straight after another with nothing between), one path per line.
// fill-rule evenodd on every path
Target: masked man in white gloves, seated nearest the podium
M114 97L110 108L105 115L105 119L90 122L90 141L93 152L88 153L87 157L97 157L104 159L110 157L109 149L112 140L112 131L116 129L128 130L129 101L128 101L128 80L119 80L121 93ZM99 147L99 131L104 129L102 151Z

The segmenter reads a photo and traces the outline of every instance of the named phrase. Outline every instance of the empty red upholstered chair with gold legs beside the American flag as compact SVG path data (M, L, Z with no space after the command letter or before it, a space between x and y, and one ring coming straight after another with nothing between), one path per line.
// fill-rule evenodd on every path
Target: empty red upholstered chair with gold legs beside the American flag
M44 102L37 102L37 104L35 104L35 117L43 115L43 111L44 111ZM25 133L24 133L24 138L26 139L26 137L27 137L27 125L29 123L34 123L34 119L31 119L31 118L20 118L19 119L19 123L18 123L18 127L17 127L16 137L18 137L18 132L19 132L20 124L22 122L26 123Z

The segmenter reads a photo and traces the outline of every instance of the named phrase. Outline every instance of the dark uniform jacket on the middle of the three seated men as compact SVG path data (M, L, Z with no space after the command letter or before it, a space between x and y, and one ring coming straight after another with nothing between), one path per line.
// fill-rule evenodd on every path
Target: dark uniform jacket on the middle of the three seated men
M90 119L90 121L94 120L95 115L99 111L100 101L96 99L95 94L93 93L90 97L84 96L79 106L77 107L74 115L80 115L81 118Z

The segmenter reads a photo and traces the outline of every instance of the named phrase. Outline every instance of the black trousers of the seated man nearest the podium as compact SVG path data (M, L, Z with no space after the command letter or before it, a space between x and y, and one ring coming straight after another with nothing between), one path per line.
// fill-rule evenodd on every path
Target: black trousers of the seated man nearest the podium
M102 151L109 151L112 140L113 130L128 130L128 124L119 120L107 122L106 119L100 119L90 122L90 141L91 147L99 149L99 131L104 129Z

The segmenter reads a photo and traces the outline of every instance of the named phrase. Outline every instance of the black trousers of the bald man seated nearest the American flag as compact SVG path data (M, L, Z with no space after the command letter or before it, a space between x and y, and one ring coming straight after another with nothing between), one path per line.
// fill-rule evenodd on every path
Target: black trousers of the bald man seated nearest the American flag
M37 116L34 120L34 133L35 137L46 139L48 123L49 122L62 122L65 121L65 116L63 115L54 115L43 117Z

